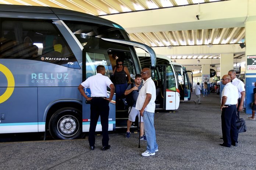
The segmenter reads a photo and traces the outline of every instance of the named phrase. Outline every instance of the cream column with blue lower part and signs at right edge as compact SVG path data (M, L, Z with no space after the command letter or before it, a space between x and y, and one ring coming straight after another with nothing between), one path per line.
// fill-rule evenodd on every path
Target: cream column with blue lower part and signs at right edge
M256 21L251 20L253 19L248 17L245 23L245 107L247 114L252 113L250 103L253 102L253 88L255 88L254 82L256 82Z

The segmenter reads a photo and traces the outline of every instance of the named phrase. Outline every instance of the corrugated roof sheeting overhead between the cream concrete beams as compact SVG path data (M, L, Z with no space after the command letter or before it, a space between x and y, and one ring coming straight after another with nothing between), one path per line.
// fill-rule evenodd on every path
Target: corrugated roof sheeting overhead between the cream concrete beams
M214 1L221 0L0 0L0 4L50 6L100 16ZM207 45L209 43L235 44L244 42L245 27L141 32L131 33L130 38L133 41L142 42L150 47ZM243 56L245 55L234 55L234 58L242 58ZM172 58L200 59L220 58L220 56L172 56Z

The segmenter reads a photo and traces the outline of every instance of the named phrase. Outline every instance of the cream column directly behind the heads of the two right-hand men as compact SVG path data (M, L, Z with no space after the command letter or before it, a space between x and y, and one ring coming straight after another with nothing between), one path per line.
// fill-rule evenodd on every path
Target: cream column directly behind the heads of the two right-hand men
M228 74L229 70L234 69L233 65L234 54L220 54L220 79L223 75ZM220 81L220 96L224 85Z

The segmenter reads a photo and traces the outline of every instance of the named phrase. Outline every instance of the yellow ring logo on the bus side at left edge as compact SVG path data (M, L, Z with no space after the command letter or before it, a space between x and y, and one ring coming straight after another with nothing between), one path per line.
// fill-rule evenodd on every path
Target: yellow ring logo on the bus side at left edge
M9 97L11 97L11 95L13 94L15 82L11 71L3 64L0 64L0 72L2 72L7 79L6 91L3 93L3 95L0 96L0 103L3 103L7 99L9 99Z

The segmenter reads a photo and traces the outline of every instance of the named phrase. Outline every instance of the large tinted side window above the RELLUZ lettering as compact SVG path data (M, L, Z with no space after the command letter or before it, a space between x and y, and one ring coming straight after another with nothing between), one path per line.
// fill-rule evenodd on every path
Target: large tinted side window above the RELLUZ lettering
M0 59L28 59L80 69L51 20L1 18Z

